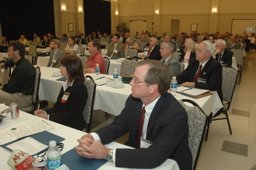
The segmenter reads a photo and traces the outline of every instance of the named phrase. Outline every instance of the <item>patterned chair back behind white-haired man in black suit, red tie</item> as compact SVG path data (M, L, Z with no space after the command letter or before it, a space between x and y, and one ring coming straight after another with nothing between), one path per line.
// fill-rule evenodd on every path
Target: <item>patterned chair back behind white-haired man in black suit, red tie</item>
M222 96L223 100L231 102L237 81L238 72L230 67L222 67Z

